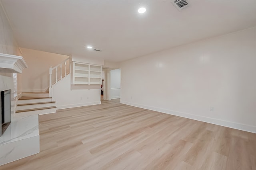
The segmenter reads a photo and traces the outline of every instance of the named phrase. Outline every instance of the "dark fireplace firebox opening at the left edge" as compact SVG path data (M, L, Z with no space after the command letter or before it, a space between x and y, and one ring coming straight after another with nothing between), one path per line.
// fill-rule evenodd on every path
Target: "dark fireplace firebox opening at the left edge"
M11 90L4 90L0 95L1 117L0 136L11 123Z

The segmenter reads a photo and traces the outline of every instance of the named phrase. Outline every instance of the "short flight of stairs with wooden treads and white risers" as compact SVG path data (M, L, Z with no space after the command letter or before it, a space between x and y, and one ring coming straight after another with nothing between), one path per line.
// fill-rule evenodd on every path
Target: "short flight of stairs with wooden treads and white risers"
M55 103L49 98L49 93L22 93L17 102L15 117L56 113Z

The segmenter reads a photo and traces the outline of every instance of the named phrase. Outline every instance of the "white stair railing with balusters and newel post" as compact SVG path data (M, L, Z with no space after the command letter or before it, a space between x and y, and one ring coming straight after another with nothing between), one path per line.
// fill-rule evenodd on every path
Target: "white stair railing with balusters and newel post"
M64 74L65 72L65 74ZM52 97L52 86L62 80L70 73L70 58L62 61L60 64L50 67L50 83L49 83L49 97Z

